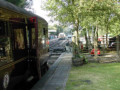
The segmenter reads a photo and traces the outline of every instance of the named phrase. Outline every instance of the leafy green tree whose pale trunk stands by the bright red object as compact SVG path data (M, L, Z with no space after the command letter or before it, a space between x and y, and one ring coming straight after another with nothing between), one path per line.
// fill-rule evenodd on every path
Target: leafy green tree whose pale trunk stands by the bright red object
M95 58L97 58L97 41L98 41L98 32L104 26L106 33L108 34L108 22L110 19L110 15L114 14L115 11L115 2L111 0L90 0L87 3L89 8L83 15L87 15L87 20L89 20L90 25L94 26L94 49L95 49ZM87 6L86 6L87 7Z

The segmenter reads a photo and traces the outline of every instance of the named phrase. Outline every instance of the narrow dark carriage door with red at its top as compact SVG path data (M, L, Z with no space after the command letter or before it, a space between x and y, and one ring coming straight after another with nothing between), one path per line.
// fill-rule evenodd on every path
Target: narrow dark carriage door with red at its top
M29 36L29 64L30 70L33 76L38 75L38 66L37 66L37 27L36 27L36 18L31 17L28 20L28 36Z

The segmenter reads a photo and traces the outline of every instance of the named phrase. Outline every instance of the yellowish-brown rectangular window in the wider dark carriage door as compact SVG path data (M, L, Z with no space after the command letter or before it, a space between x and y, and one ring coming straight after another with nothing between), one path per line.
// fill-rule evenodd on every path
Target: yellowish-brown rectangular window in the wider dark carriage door
M15 49L24 49L25 42L24 42L23 30L22 29L15 29L14 36L15 36Z

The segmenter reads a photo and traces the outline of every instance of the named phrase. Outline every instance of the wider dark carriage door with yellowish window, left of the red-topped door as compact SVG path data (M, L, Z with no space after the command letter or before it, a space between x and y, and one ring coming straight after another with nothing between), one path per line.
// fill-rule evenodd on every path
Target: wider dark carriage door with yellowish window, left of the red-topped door
M23 75L28 67L27 57L27 38L26 26L24 19L13 19L16 22L11 22L12 26L12 44L13 44L13 57L15 61L15 75Z

